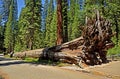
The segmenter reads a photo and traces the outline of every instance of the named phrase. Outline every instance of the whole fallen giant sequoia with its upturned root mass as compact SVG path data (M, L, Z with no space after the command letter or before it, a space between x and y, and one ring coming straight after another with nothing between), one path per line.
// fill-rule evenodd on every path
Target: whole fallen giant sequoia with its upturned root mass
M74 63L79 66L81 63L102 64L107 62L107 50L114 47L111 41L113 35L110 22L99 16L99 12L97 12L94 19L88 19L86 26L82 29L81 37L62 45L45 48L37 53L32 52L31 55L24 52L21 57L39 57L40 59ZM15 56L20 56L20 53Z

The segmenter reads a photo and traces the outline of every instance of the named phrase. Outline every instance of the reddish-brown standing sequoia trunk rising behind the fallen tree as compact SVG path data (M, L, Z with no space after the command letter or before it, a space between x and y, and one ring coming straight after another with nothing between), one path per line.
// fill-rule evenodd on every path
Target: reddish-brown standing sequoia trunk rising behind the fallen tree
M62 0L57 0L57 45L63 43Z

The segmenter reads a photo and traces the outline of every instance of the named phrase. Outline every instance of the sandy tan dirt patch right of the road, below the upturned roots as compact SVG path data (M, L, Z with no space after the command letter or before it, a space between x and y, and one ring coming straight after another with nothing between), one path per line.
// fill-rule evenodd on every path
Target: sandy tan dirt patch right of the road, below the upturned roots
M120 61L113 61L101 66L88 68L93 74L106 76L109 79L120 79Z

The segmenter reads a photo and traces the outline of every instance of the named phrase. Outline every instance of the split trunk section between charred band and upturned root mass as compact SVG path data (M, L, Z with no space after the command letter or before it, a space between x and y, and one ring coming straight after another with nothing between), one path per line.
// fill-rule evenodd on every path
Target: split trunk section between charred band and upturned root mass
M79 60L81 60L79 55L81 54L83 43L83 37L80 37L62 45L45 48L42 58L78 64Z

